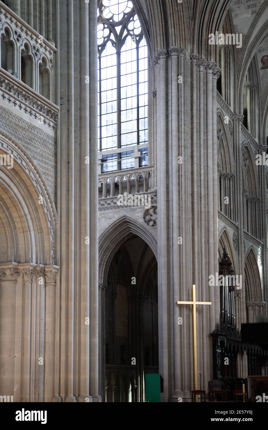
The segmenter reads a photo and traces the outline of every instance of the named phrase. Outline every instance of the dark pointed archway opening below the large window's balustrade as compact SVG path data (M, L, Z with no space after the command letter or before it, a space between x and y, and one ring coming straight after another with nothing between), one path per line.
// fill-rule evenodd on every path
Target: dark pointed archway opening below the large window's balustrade
M124 230L126 224L100 284L99 380L106 402L144 401L145 374L159 373L157 259L141 232L125 236Z

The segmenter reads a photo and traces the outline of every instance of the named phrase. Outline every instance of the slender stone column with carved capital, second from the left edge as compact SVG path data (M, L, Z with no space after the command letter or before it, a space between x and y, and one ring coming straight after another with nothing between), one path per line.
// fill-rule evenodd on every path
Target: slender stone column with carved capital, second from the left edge
M31 334L33 325L31 323L31 295L32 295L32 278L34 276L34 267L31 264L21 264L24 280L24 334L23 334L23 402L30 402L30 369L31 369Z

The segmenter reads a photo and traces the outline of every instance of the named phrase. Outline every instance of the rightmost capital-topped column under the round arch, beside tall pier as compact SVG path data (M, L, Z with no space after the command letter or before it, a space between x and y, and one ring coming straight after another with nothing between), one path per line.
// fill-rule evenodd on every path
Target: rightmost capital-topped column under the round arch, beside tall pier
M46 289L46 329L45 329L45 384L44 401L52 402L54 397L55 378L55 301L56 276L59 267L50 265L45 267Z

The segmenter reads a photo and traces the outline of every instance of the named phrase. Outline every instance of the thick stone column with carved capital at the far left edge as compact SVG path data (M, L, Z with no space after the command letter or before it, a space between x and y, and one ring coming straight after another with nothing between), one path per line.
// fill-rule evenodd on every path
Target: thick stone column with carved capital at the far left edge
M16 285L18 264L0 266L0 389L2 396L14 396Z

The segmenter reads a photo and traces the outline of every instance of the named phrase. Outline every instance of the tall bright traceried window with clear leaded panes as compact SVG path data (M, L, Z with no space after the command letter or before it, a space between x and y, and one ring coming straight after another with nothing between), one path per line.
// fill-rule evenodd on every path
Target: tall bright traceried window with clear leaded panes
M131 1L99 0L99 151L102 172L148 165L148 56Z

